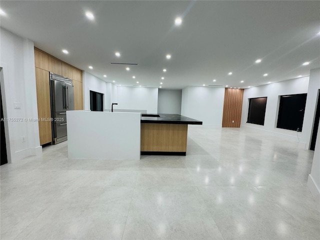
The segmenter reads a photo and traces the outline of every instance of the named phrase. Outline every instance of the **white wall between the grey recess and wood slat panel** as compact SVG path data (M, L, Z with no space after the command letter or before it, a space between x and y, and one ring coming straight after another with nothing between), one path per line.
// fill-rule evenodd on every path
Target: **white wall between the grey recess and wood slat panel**
M182 89L181 115L222 126L223 101L224 87L188 86Z

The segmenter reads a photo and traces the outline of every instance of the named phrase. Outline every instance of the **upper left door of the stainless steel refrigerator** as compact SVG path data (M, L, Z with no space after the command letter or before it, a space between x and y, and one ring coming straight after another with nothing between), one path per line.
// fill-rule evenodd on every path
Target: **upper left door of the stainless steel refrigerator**
M61 81L51 81L53 85L53 111L65 111L66 110L66 87L65 83Z

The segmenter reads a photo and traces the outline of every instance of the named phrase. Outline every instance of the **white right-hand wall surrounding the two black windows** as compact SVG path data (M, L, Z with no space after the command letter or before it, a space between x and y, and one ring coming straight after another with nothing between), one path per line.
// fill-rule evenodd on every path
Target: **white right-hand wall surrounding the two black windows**
M305 143L305 138L302 138L302 133L305 131L305 124L302 125L302 133L293 130L276 128L279 95L307 93L309 77L300 77L286 81L275 82L267 85L251 87L244 89L241 126L254 127L270 131L275 135L281 135L287 139L300 141ZM246 123L248 115L248 98L266 96L266 108L264 116L264 125ZM306 116L305 116L306 117ZM298 137L297 137L298 134Z

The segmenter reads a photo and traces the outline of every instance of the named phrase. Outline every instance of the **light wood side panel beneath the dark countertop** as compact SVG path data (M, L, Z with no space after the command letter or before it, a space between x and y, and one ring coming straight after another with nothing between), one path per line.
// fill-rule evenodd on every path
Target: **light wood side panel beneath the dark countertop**
M141 151L186 152L187 124L141 123Z

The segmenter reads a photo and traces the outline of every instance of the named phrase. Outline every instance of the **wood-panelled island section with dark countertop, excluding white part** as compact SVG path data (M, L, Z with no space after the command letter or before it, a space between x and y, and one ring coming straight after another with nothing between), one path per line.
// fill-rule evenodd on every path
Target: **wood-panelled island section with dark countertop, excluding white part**
M141 114L141 155L186 154L188 124L202 121L179 114Z

